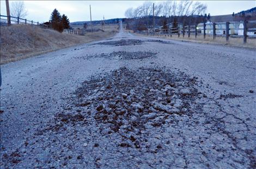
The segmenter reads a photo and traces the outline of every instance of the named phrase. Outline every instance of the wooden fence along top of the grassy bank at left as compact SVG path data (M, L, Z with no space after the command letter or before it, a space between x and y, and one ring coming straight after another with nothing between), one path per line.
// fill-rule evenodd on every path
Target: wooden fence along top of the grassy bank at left
M39 22L34 22L33 20L30 21L28 19L23 19L20 17L14 17L14 16L5 16L5 15L0 15L0 23L1 25L6 24L29 24L29 25L36 25L36 26L40 26L43 28L51 28L49 25L46 24L40 24ZM9 19L9 23L8 23L8 19Z

